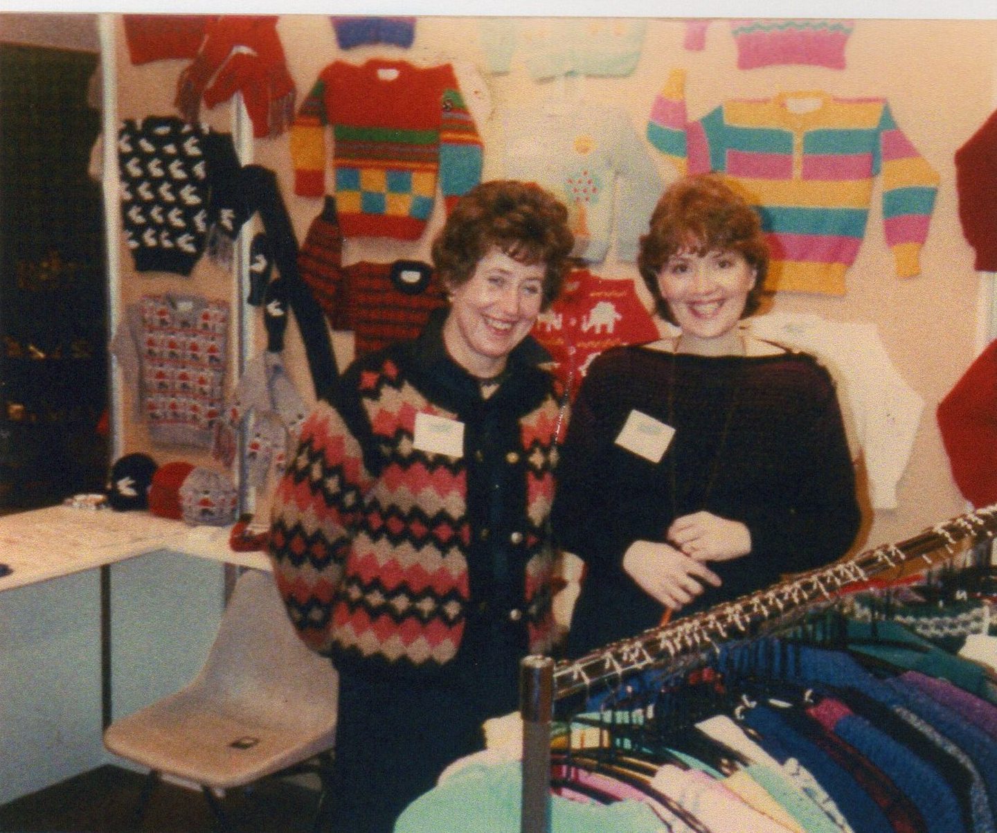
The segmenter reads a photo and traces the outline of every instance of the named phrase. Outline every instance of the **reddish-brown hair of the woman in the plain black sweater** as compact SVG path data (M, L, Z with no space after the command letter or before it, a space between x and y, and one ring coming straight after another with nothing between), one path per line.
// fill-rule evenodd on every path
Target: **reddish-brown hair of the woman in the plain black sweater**
M742 318L762 302L769 270L769 244L758 212L716 174L697 174L673 183L651 214L649 230L640 238L637 267L654 304L666 321L675 323L661 294L658 273L680 251L738 251L755 269Z

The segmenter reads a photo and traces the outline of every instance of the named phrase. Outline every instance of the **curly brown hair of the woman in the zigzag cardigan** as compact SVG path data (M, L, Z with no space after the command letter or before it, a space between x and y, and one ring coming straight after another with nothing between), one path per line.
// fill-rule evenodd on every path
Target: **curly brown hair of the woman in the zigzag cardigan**
M481 183L458 201L433 240L437 279L449 289L460 286L492 246L521 263L544 264L546 309L560 292L574 246L567 208L534 183Z

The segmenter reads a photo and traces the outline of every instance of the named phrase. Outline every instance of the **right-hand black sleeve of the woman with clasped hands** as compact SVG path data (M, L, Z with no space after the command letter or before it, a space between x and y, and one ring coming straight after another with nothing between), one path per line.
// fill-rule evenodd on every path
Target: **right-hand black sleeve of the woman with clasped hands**
M831 375L821 365L816 370L812 406L802 414L798 435L795 499L778 508L764 501L752 504L740 518L751 533L752 551L766 554L766 564L758 568L771 571L772 581L843 556L861 521Z

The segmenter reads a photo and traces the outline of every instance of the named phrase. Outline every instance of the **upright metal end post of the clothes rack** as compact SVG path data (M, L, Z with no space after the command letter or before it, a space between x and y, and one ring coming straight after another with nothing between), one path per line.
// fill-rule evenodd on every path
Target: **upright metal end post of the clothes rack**
M550 833L550 721L554 660L531 654L519 662L522 716L520 833Z

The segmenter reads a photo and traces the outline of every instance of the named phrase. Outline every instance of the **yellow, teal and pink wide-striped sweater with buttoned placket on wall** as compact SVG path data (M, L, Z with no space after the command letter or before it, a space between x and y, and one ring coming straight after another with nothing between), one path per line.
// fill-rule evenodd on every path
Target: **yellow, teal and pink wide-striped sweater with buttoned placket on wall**
M884 99L783 93L728 101L688 122L684 81L674 71L656 97L647 138L680 172L722 173L759 209L772 250L767 289L844 294L875 177L896 274L920 271L938 174ZM794 112L796 102L816 108Z

